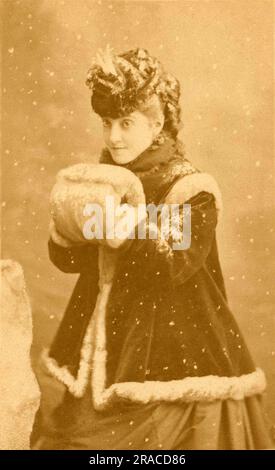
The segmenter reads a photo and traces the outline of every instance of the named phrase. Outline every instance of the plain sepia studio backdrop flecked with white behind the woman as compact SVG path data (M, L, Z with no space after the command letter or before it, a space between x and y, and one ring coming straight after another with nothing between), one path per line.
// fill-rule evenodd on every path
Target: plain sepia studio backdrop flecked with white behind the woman
M48 346L77 275L47 254L57 171L96 162L101 126L86 72L99 47L144 47L181 82L187 157L218 181L229 303L268 379L275 422L273 2L2 0L2 258L21 263L33 358ZM272 206L273 204L273 206ZM272 246L273 242L273 246Z

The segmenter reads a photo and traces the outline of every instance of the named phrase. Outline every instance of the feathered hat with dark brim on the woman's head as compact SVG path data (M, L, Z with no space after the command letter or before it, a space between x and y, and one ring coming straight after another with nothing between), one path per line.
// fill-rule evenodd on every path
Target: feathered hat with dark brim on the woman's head
M146 49L131 49L116 55L109 45L97 52L88 71L86 85L92 91L91 104L100 116L129 114L153 95L170 111L178 106L179 82Z

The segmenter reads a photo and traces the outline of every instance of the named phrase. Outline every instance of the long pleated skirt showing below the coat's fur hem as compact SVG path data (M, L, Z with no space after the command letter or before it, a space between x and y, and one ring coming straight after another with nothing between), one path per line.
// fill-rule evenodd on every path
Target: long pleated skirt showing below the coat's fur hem
M261 396L194 403L123 403L97 411L90 390L83 398L65 391L57 406L54 393L52 389L50 400L42 397L31 438L33 450L274 448Z

